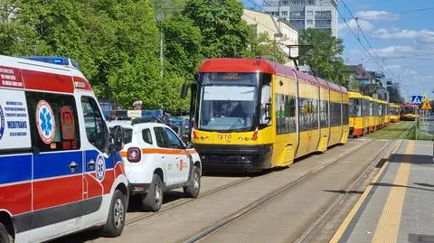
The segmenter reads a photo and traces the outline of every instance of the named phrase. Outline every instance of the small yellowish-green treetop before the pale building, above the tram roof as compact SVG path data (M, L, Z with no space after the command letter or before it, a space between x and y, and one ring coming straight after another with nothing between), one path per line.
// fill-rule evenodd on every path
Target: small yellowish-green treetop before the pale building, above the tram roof
M285 64L288 62L288 54L282 51L278 42L272 41L268 33L259 33L250 41L250 48L246 54L247 57L271 56L278 63Z

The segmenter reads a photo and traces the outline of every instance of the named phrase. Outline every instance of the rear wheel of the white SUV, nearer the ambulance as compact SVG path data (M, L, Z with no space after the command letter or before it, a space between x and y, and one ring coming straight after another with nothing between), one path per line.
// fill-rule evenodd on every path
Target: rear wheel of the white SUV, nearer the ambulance
M154 174L149 191L142 196L143 209L150 211L160 210L163 204L163 192L163 182L161 182L158 174Z

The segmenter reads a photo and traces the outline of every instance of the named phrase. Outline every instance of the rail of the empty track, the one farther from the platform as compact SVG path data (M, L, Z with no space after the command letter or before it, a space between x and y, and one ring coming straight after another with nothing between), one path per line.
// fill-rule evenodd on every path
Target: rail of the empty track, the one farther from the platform
M190 243L190 242L197 242L200 241L207 236L211 235L214 232L217 232L219 229L222 229L223 227L231 224L232 221L241 219L243 216L248 215L250 212L258 209L260 206L264 206L270 201L273 201L275 199L278 199L278 197L292 188L299 185L301 182L306 181L307 179L311 178L312 176L316 175L317 173L320 173L324 171L326 168L338 163L339 161L343 160L346 156L353 154L354 152L361 149L364 145L369 145L373 142L373 140L370 140L366 143L363 143L362 145L356 145L352 149L345 151L343 154L339 154L329 162L322 164L315 169L301 175L296 180L293 180L291 182L288 182L284 184L283 186L279 187L276 190L273 190L272 192L267 193L263 197L259 198L256 201L252 201L249 204L247 204L245 207L241 208L240 210L236 210L227 217L224 217L222 220L219 220L217 223L214 223L212 225L209 225L208 227L205 227L198 231L198 233L190 236L189 238L184 238L181 242Z

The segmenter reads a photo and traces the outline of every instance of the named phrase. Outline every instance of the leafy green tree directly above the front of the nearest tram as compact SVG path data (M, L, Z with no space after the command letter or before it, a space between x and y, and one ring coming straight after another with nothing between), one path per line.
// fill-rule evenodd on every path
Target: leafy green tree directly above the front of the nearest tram
M238 0L187 1L184 16L201 30L203 58L237 57L247 50L252 32L242 11Z

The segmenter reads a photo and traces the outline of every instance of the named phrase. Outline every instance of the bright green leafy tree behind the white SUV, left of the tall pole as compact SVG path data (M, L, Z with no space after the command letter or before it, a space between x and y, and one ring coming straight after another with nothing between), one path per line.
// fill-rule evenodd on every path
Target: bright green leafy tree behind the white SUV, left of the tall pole
M164 80L159 75L158 29L149 0L118 1L109 13L117 42L109 54L111 97L122 107L140 99L145 108L161 108Z

